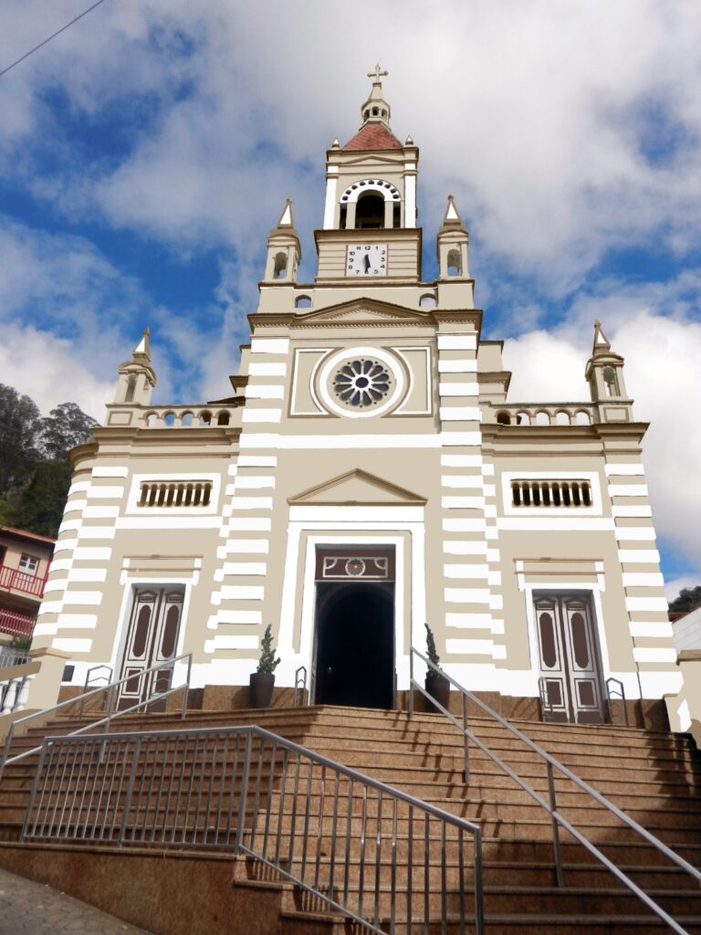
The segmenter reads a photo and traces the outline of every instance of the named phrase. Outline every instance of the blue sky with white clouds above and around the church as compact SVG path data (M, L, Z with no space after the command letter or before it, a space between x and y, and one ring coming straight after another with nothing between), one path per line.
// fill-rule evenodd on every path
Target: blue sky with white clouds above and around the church
M4 0L0 69L86 6ZM668 590L701 582L700 40L665 0L107 0L0 78L0 381L100 416L149 324L158 399L224 395L288 194L313 279L324 151L379 61L424 278L451 192L514 401L586 399L602 320Z

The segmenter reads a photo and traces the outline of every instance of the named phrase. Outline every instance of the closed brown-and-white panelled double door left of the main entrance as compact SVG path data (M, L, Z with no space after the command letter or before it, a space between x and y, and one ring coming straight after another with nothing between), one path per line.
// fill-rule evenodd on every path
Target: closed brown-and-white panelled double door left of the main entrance
M175 657L184 597L177 587L136 588L122 657L120 679L127 681L120 686L119 711L170 688L171 667L144 673Z

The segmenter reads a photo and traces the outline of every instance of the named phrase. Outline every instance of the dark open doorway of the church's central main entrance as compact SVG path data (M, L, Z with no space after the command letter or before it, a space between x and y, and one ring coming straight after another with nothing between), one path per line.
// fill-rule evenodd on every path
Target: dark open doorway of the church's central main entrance
M315 704L393 708L394 584L317 583Z

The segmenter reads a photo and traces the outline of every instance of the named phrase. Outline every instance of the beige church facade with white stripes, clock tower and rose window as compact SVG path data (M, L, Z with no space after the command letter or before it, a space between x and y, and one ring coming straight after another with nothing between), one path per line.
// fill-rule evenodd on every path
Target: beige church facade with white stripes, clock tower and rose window
M428 622L454 678L554 718L604 718L610 679L676 694L622 357L596 323L586 401L508 402L451 197L422 281L419 151L371 77L326 153L315 281L289 201L268 236L232 395L152 405L148 332L120 367L73 455L35 646L76 683L192 652L194 686L244 685L271 624L279 685L305 667L312 701L393 707Z

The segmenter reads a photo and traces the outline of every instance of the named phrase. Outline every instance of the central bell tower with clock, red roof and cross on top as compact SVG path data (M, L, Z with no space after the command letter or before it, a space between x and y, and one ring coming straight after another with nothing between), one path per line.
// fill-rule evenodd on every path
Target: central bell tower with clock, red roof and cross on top
M317 281L417 282L421 278L421 230L416 226L419 151L404 145L390 126L392 109L382 90L387 72L368 73L370 94L361 125L344 146L326 153L323 228L315 232Z

